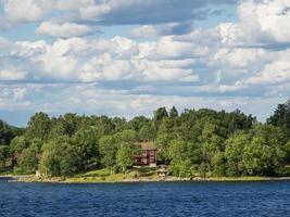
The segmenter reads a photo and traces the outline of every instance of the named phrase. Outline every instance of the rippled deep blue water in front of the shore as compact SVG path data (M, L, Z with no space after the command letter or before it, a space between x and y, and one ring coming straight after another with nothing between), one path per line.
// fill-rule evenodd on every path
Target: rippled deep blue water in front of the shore
M0 179L0 216L290 216L290 182L15 183Z

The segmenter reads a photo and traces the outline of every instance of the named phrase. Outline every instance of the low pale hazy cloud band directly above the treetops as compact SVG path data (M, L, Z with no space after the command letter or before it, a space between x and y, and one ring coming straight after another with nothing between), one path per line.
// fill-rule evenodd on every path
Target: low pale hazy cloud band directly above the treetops
M72 95L72 92L74 93ZM46 93L46 94L43 94ZM102 89L94 85L13 85L0 86L1 108L11 111L34 110L52 114L67 111L79 114L106 114L130 118L135 115L152 116L159 106L176 105L181 112L185 107L210 107L234 111L237 107L247 114L256 114L264 119L279 102L286 98L247 97L179 97L156 94L127 94L117 90ZM102 102L102 103L100 103Z

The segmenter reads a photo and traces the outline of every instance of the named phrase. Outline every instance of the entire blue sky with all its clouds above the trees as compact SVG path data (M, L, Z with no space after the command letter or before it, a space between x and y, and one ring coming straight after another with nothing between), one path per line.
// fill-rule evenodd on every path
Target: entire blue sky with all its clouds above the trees
M290 98L290 0L0 0L0 119Z

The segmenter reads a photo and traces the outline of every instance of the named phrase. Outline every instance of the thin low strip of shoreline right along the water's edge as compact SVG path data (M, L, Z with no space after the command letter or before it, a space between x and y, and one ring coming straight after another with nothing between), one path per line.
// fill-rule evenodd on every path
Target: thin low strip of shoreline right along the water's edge
M290 177L209 177L201 178L178 178L167 177L166 179L119 179L119 180L100 180L96 177L87 178L39 178L34 175L30 176L0 176L0 178L11 178L12 182L26 183L146 183L146 182L266 182L266 181L290 181Z

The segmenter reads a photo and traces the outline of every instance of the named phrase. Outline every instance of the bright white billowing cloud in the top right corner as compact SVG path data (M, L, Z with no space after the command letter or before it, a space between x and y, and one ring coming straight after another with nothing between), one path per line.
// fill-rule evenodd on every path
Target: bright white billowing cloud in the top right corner
M238 7L239 23L224 23L217 29L226 44L290 42L289 0L245 0Z

